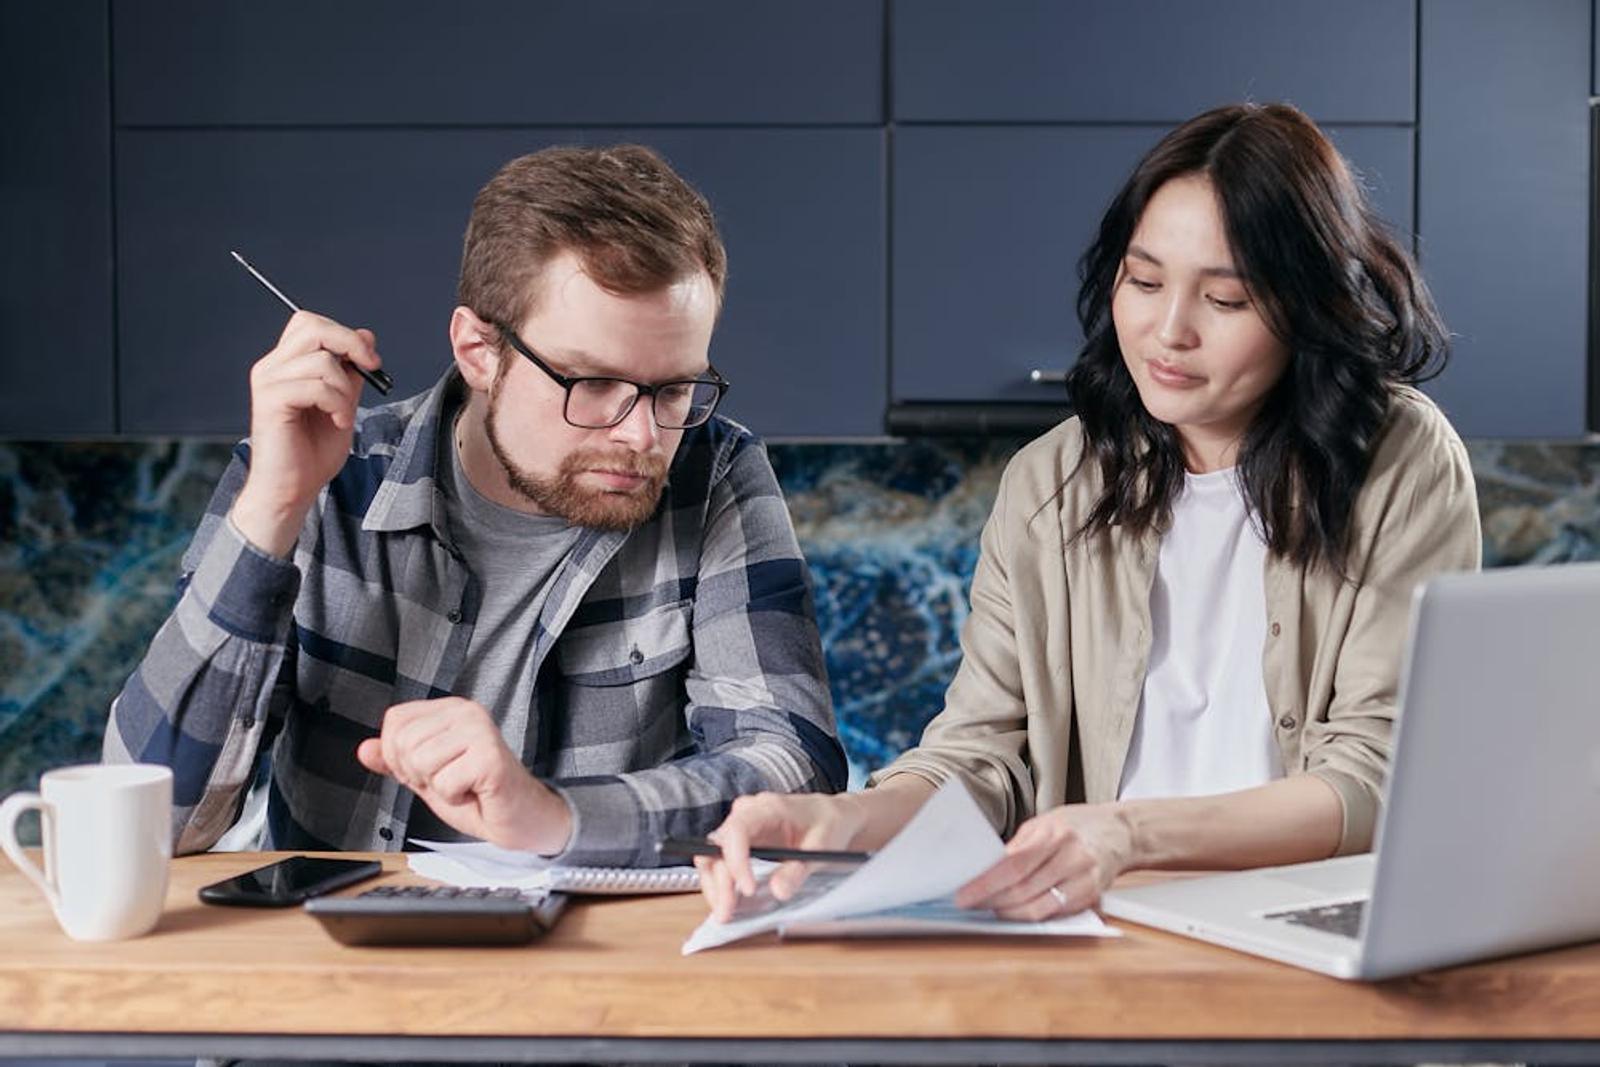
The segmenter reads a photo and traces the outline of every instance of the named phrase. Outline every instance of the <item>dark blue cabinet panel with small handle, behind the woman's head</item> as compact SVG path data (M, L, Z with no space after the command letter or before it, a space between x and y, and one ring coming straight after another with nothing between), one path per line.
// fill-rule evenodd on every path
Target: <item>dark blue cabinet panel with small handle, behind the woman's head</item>
M1056 400L1083 334L1077 261L1150 126L914 126L894 136L893 395ZM1411 229L1411 131L1330 128L1381 214Z

